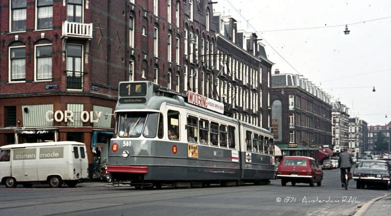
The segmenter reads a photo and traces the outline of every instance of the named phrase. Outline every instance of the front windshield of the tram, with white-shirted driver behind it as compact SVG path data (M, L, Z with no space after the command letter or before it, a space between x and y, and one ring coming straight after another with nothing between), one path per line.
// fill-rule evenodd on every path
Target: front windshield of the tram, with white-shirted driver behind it
M155 137L159 113L120 112L116 116L116 132L119 137Z

